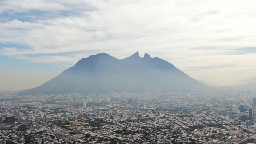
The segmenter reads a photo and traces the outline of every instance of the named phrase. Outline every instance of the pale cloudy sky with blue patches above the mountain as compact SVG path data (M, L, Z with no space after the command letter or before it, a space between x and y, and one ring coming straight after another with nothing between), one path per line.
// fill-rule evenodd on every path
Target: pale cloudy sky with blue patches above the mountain
M103 51L148 53L231 85L256 76L256 1L0 0L0 91L39 86Z

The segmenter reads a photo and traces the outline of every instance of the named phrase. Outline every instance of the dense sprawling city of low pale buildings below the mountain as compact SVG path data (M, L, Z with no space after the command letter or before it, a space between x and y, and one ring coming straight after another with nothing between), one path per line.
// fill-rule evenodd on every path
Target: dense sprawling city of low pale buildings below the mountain
M250 91L2 93L0 143L256 143Z

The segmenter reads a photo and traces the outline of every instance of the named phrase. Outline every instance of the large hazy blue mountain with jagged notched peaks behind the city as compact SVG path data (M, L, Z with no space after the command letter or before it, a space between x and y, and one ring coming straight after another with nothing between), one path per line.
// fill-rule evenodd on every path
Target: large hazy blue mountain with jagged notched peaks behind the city
M20 95L200 90L206 87L171 63L151 58L147 53L141 58L136 52L125 59L100 53L81 59L57 77L22 91Z

